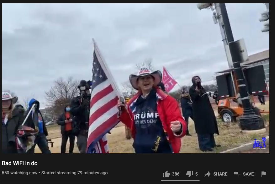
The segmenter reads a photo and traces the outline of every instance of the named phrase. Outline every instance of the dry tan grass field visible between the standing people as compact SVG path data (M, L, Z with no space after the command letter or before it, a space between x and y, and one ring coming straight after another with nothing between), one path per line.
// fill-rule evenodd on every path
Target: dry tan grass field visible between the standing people
M259 105L259 108L269 111L269 102L265 106ZM264 134L243 134L241 133L238 123L223 123L218 119L218 126L220 135L216 135L217 144L221 147L213 153L225 151L230 148L238 147L244 143L251 142L254 139L261 139L261 137L269 135L269 114L263 116L267 131ZM203 153L198 149L198 138L195 134L194 123L190 120L189 131L193 135L182 138L181 153ZM55 127L54 127L55 126ZM60 153L60 130L56 129L56 125L49 126L50 138L54 139L55 146L51 148L52 153ZM108 135L109 151L110 153L134 153L132 148L133 140L126 140L125 128L123 124L119 124L114 128L111 135ZM68 147L68 145L67 145ZM39 153L39 150L36 151ZM78 153L75 147L75 153Z

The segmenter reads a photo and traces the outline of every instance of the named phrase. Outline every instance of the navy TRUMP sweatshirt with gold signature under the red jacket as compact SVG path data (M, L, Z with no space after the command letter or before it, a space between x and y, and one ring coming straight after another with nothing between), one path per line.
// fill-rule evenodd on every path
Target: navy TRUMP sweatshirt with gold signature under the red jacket
M157 113L156 101L156 92L152 91L147 98L140 96L135 103L135 153L172 153Z

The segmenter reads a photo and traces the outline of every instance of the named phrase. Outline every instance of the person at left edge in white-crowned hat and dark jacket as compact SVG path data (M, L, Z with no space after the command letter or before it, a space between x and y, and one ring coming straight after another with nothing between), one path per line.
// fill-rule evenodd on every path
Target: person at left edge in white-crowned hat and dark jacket
M15 108L17 97L2 92L2 153L18 153L16 132L24 121L24 110Z

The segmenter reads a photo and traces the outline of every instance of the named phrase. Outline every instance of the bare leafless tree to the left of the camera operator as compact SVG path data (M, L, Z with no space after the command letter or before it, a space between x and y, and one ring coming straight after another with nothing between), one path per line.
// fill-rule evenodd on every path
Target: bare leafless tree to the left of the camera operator
M60 78L54 82L50 90L45 92L48 105L53 109L55 114L59 114L64 110L66 104L78 94L77 86L79 81L73 78Z

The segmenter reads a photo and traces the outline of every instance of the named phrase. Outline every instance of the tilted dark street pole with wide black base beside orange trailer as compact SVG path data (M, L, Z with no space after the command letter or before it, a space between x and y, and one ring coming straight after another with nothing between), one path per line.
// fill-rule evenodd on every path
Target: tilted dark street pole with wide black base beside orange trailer
M250 104L250 95L247 92L245 78L241 68L242 55L233 37L225 3L198 3L197 7L199 10L212 9L212 11L215 12L214 15L218 19L221 30L224 32L222 35L225 34L226 41L223 41L229 46L233 69L244 109L244 113L239 119L241 130L249 132L255 130L265 131L264 122L261 116L255 114Z

